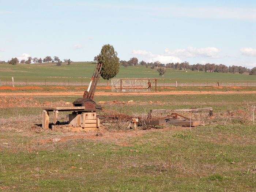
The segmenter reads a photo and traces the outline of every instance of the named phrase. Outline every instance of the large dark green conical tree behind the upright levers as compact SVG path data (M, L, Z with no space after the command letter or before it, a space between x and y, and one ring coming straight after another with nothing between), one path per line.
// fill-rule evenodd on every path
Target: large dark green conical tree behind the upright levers
M110 44L103 45L101 53L98 56L98 62L103 64L101 76L103 79L108 80L113 78L119 72L119 58L114 47Z

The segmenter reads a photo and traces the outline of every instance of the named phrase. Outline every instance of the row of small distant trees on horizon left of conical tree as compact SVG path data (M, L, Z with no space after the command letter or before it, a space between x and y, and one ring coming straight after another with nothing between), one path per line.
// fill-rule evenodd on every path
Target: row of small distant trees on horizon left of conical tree
M41 58L37 58L37 57L27 57L27 60L25 59L22 59L20 61L20 63L26 63L26 64L31 64L31 61L33 61L34 63L49 63L49 62L52 62L52 63L56 63L57 66L60 66L62 64L62 61L59 59L59 57L57 56L54 56L53 59L51 56L46 56L43 60ZM67 62L68 65L71 64L71 60L70 59L64 59L64 62ZM2 63L9 63L11 65L16 65L19 63L19 60L17 59L17 57L15 58L12 58L11 60L8 60L7 62L5 61L0 61L0 64Z

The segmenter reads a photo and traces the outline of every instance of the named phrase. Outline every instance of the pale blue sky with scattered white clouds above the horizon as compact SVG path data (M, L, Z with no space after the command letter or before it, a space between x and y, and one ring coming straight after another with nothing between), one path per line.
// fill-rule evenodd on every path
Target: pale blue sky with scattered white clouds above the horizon
M255 0L0 0L0 60L120 60L256 67Z

